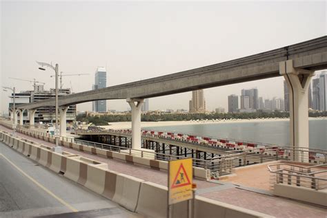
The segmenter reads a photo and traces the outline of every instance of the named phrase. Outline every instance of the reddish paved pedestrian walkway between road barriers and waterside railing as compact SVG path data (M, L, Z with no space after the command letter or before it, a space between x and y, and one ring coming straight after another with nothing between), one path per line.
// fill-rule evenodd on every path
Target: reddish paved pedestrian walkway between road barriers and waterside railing
M1 130L11 131L6 127L0 126ZM23 135L22 133L17 133L21 138L27 138L33 140L34 142L39 142L47 146L54 146L54 144L45 142L43 140L38 140L32 138L28 135ZM75 153L77 155L82 155L99 162L107 163L108 168L117 171L119 173L124 173L127 175L132 175L134 177L144 179L146 181L155 182L156 184L161 184L167 186L167 172L156 171L151 168L146 168L145 166L137 166L133 164L128 164L119 160L112 160L106 157L101 157L97 155L92 155L91 153L84 153L81 151L76 151L74 149L68 149L63 147L63 151L68 151L70 153ZM264 170L264 173L258 173L257 177L251 177L250 175L257 174L256 171ZM266 172L267 171L267 172ZM241 171L240 171L241 172ZM244 171L244 176L240 173L234 179L224 180L224 182L206 182L198 179L194 179L197 184L197 193L202 197L207 197L209 199L215 199L217 201L225 202L227 204L240 206L242 208L255 210L258 212L263 212L268 215L275 217L321 217L326 218L327 208L320 206L315 206L313 204L301 203L299 201L294 201L290 199L285 199L282 197L274 197L269 195L264 195L260 193L254 193L256 188L262 188L266 190L266 184L256 185L258 181L266 181L269 177L268 170L264 165L259 168L247 168ZM232 178L232 177L230 177ZM242 182L243 181L243 182ZM233 186L232 183L238 183L239 186ZM241 189L242 186L244 189ZM248 188L246 186L254 187ZM262 192L264 193L264 191Z

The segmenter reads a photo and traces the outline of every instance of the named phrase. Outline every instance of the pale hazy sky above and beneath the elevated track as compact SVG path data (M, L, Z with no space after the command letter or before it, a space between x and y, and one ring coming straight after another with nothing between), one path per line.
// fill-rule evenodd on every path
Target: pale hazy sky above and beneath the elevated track
M107 67L107 86L172 74L266 52L327 33L326 1L45 2L1 1L0 85L17 92L37 80L54 87L52 70L35 61L59 63L74 92L92 89L97 66ZM205 89L207 109L224 107L227 96L257 87L264 98L282 97L283 78ZM70 85L71 84L71 85ZM0 92L0 111L10 93ZM191 93L150 99L150 109L188 109ZM108 109L128 109L108 100ZM91 103L77 106L91 109Z

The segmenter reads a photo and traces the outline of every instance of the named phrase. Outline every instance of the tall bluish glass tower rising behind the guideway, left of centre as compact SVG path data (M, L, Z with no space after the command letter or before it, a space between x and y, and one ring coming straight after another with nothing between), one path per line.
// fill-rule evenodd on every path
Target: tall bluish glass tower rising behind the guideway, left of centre
M95 85L92 89L102 89L107 87L107 72L106 68L98 67L97 72L95 72ZM106 112L107 111L107 101L106 100L96 100L92 103L92 109L96 112Z

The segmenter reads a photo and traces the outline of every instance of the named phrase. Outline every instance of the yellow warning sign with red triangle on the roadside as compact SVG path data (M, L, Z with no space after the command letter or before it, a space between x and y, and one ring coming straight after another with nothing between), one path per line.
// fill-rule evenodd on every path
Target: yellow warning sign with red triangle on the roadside
M192 158L170 160L168 172L168 204L192 199Z

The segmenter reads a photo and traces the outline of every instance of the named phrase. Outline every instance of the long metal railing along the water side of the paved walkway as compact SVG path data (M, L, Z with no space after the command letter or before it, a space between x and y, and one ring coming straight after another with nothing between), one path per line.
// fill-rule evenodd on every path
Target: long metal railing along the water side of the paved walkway
M17 127L17 128L21 129L22 131L26 131L28 133L35 133L37 135L44 135L49 138L54 138L54 136L49 133L44 133L41 131L37 131L35 129L28 129L25 127ZM166 139L169 138L165 138L165 140ZM141 153L142 157L149 157L150 155L152 156L154 155L156 160L167 161L167 160L177 160L181 158L186 158L177 155L147 152L137 149L129 149L120 146L114 146L110 144L101 144L98 142L88 142L88 141L77 140L68 137L60 137L59 140L64 142L82 144L85 146L97 147L109 151L117 151L117 152L123 151L124 153L128 153L130 155L132 155L134 152L137 152L137 153ZM211 175L213 177L219 177L221 175L232 173L232 169L238 166L246 166L250 164L258 164L258 163L270 162L274 160L292 160L291 157L295 153L297 153L298 162L327 164L327 151L321 149L307 149L307 148L293 149L292 147L289 146L267 146L264 148L239 149L239 150L226 151L226 155L220 155L219 157L214 157L210 160L200 160L200 159L193 158L193 165L208 169L210 170ZM313 160L311 157L313 153L315 153L316 157L318 155L319 158Z

